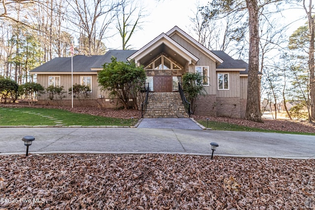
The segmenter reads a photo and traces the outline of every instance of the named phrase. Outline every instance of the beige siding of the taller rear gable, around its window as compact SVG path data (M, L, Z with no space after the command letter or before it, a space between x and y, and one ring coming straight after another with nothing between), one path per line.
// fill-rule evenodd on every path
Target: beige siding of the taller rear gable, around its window
M194 47L191 43L186 41L177 33L173 34L171 38L199 59L195 65L190 64L188 66L189 72L191 73L196 72L196 69L195 69L196 66L209 66L209 83L210 84L209 86L205 86L206 94L209 94L209 95L216 94L217 93L216 62L214 60L211 60L202 51Z

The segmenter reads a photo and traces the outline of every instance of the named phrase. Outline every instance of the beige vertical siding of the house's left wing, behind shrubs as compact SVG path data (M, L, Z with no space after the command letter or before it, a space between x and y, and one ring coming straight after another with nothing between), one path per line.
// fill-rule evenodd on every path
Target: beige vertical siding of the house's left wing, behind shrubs
M37 83L42 85L45 89L48 87L49 76L60 76L60 86L64 87L64 90L67 91L64 95L66 96L64 100L70 100L71 95L68 93L69 88L71 88L71 75L69 74L37 74ZM104 91L100 90L100 87L97 83L97 75L96 74L74 74L73 75L73 85L80 84L81 76L92 76L92 92L89 95L89 99L97 99L98 95L102 95L102 97L107 96ZM48 99L48 94L44 93L41 96L38 96L38 100L46 100ZM57 99L57 97L55 98Z

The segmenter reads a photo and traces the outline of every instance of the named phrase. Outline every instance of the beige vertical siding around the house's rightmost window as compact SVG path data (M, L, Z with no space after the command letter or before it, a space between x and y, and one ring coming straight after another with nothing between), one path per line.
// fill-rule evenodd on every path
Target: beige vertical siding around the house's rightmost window
M217 88L217 97L240 97L240 73L238 71L217 71L217 73L229 74L229 90L219 90ZM218 74L216 75L218 83ZM218 85L216 85L218 87Z

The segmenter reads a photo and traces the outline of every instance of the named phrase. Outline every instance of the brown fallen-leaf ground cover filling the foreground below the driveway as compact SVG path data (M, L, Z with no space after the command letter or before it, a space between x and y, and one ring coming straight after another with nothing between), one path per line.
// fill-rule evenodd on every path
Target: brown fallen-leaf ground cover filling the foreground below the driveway
M315 160L1 156L1 210L314 210Z

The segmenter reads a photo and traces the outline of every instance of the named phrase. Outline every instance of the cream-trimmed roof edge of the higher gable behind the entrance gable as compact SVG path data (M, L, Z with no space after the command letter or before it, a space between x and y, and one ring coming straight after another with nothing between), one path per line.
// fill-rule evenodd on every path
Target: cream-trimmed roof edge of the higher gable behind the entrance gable
M194 38L192 38L191 36L189 36L189 34L187 34L184 30L181 30L180 28L178 28L177 26L175 26L173 29L169 30L168 32L166 32L167 36L172 36L174 33L177 33L178 35L180 35L182 38L184 38L185 40L189 41L191 44L193 44L195 47L197 47L198 49L200 49L201 51L204 52L205 55L207 55L210 59L216 61L216 63L222 63L223 60L221 60L221 58L219 58L217 55L215 55L213 52L211 52L209 49L207 49L205 46L203 46L202 44L200 44L199 42L197 42Z

